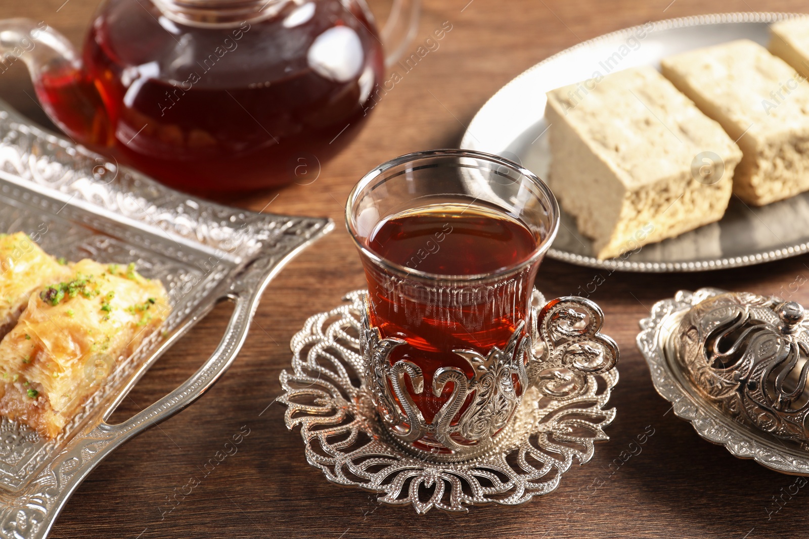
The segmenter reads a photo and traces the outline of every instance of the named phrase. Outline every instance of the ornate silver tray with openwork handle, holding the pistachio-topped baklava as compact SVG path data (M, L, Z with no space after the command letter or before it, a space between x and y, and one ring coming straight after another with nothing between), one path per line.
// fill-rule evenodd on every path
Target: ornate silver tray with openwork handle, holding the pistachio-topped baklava
M163 333L116 366L54 440L0 419L0 537L45 537L67 499L113 449L188 406L239 352L269 280L333 227L329 219L252 213L172 191L33 126L0 101L0 232L23 231L70 260L135 262L166 286ZM219 301L234 302L213 355L176 390L106 423L146 369Z

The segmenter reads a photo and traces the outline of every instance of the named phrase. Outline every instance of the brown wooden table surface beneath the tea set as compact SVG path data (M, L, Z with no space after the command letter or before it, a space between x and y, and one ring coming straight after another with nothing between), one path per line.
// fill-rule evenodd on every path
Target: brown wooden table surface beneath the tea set
M0 0L0 14L44 20L79 44L96 2ZM99 465L70 499L52 537L805 537L809 489L776 503L773 498L794 478L701 440L654 392L634 341L650 305L680 288L779 293L809 282L807 255L722 272L609 276L592 298L604 308L605 332L622 352L610 440L596 446L591 463L574 465L557 491L521 507L474 507L465 516L381 507L374 495L326 482L307 465L299 435L286 431L282 406L267 408L280 393L278 373L290 362L290 337L311 314L363 286L342 208L349 188L372 166L419 149L458 145L464 125L500 86L580 40L684 15L807 10L798 0L670 2L426 0L416 41L444 21L451 32L384 97L348 149L310 185L237 203L259 210L272 200L265 211L332 217L335 232L270 284L244 350L221 381ZM33 95L22 62L0 75L0 98L48 125ZM537 284L556 297L574 293L596 273L546 260ZM809 303L809 287L798 287L791 299ZM223 306L200 322L150 370L113 419L141 410L193 373L214 350L228 315ZM167 500L190 478L201 477L202 465L239 432L249 434L238 453L190 495L177 496L180 504L165 513ZM608 463L643 432L654 434L610 474ZM602 486L584 490L599 477Z

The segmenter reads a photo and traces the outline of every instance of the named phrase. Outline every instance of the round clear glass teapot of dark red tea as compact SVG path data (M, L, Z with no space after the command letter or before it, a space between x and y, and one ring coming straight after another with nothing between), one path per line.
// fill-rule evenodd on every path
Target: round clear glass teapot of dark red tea
M30 19L0 21L0 54L74 141L184 191L247 192L351 141L418 9L395 0L379 34L364 0L106 0L81 57Z

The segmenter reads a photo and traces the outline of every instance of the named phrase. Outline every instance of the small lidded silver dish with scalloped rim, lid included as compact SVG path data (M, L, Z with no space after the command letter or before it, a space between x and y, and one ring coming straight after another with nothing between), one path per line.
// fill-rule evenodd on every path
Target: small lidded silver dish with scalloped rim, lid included
M805 355L809 347L807 335L791 335L800 323L790 320L792 306L718 288L680 290L641 320L637 346L654 389L697 434L770 470L809 475L806 398L799 394L805 378L788 381L790 373L806 370L797 352ZM762 392L762 381L770 379L775 385Z

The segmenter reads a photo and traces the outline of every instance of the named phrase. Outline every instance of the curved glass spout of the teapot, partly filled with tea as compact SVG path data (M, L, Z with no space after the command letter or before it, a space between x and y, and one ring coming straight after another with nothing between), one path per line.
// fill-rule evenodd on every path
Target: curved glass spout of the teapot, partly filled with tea
M44 111L74 142L109 144L104 102L65 36L44 21L0 20L0 57L25 62Z

